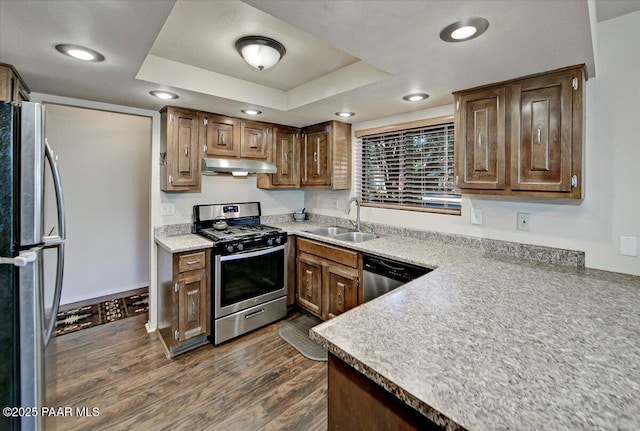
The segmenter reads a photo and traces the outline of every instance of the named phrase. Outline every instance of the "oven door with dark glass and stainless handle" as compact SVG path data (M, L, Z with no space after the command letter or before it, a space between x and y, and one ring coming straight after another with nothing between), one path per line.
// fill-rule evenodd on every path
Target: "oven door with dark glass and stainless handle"
M216 319L287 294L285 247L215 257Z

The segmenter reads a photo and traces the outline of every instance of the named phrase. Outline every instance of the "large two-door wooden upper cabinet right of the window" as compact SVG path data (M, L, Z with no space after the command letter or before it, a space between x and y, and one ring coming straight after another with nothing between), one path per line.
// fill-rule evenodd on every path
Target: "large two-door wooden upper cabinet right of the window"
M454 93L460 189L581 199L583 84L580 65Z

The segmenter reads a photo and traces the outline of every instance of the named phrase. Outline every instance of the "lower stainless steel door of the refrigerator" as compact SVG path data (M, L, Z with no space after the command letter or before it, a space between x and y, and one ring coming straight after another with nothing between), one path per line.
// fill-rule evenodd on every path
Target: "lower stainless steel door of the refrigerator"
M44 328L42 316L42 277L40 261L42 249L32 248L20 252L26 264L19 270L20 286L20 405L44 405ZM23 417L21 430L42 430L40 415Z

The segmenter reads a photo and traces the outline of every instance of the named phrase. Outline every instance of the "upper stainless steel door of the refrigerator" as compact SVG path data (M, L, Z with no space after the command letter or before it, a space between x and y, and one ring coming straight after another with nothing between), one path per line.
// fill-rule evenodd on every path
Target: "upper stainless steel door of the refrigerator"
M39 103L20 108L20 238L22 247L42 242L44 202L43 110Z

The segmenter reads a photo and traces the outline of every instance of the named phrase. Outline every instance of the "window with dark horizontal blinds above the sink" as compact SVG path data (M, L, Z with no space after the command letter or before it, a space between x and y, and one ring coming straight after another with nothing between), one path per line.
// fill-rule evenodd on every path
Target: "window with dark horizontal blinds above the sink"
M447 120L356 133L360 164L355 183L363 205L460 214L460 194L454 191L453 122Z

